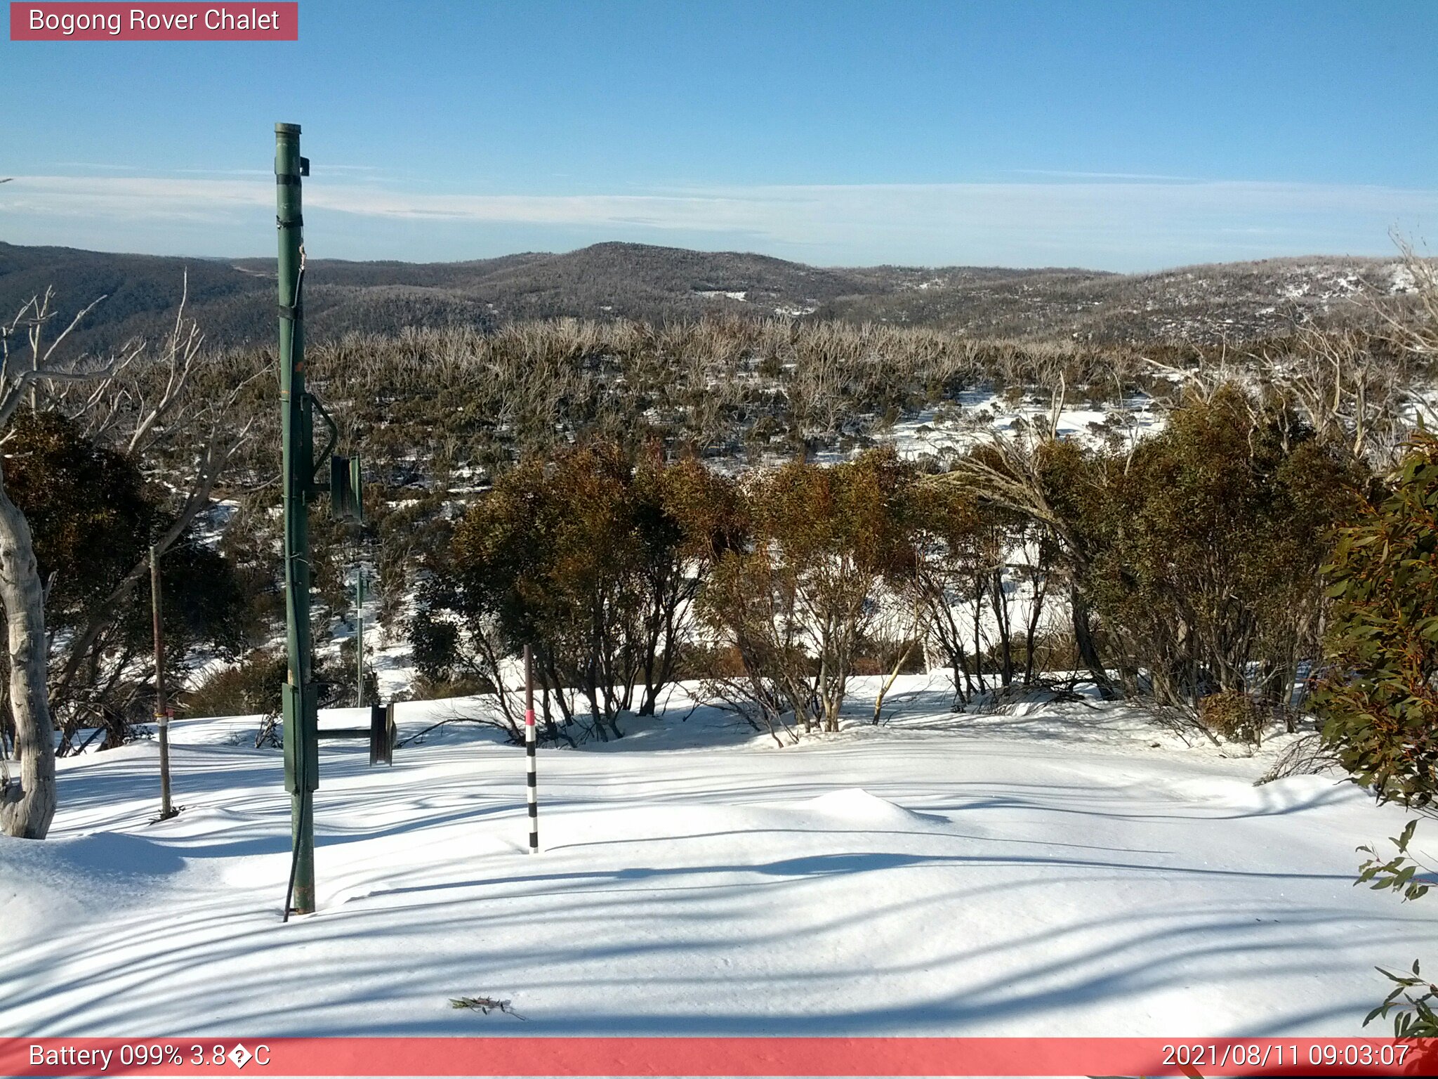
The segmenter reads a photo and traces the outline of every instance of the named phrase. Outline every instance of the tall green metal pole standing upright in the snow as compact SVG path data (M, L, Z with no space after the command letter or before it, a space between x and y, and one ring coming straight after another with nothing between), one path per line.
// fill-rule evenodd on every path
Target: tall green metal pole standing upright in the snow
M289 680L285 686L285 786L290 801L292 891L289 911L315 909L315 787L319 786L318 696L311 682L309 511L313 488L311 410L305 396L305 322L301 309L303 220L299 125L275 125L275 206L279 227L279 396L285 469L285 619Z

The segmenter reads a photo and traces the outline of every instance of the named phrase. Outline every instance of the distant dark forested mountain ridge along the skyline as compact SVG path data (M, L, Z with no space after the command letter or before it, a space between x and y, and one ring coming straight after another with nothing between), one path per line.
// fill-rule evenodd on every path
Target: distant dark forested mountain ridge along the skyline
M106 295L78 344L155 338L174 318L188 272L190 314L216 345L269 344L275 263L114 255L0 243L0 315L55 286L69 315ZM1251 340L1296 322L1343 318L1365 292L1403 291L1396 259L1314 256L1119 275L1084 269L817 268L765 255L598 243L446 263L312 260L311 340L407 325L492 328L529 318L712 314L928 325L974 337L1094 342Z

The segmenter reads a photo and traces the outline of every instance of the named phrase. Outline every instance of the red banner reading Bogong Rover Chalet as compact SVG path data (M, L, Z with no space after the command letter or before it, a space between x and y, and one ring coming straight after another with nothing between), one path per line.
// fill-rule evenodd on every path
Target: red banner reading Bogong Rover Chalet
M14 3L12 42L298 42L299 3Z

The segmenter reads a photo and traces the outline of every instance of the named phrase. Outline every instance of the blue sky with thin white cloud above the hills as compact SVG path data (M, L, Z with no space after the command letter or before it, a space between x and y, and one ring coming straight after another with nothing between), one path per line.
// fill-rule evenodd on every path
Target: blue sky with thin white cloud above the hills
M263 4L260 4L263 6ZM1438 3L370 3L0 42L0 239L469 259L636 240L1142 270L1438 240Z

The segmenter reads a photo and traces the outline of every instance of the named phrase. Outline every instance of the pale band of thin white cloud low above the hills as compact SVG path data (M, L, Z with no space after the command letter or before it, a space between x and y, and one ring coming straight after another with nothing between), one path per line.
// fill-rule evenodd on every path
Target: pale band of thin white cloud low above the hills
M0 191L0 227L10 236L36 222L66 222L65 242L83 233L92 239L81 246L106 247L114 246L106 235L127 226L207 223L209 249L190 253L247 253L275 210L273 184L249 177L16 177ZM1267 255L1378 255L1391 249L1395 227L1416 233L1438 220L1438 190L1353 184L1076 177L529 196L424 193L367 180L305 186L312 249L328 243L342 258L477 258L502 253L496 236L519 237L503 250L554 249L575 236L584 239L571 246L595 237L742 246L830 265L857 262L866 250L880 252L869 262L1152 269ZM236 236L246 239L234 246Z

